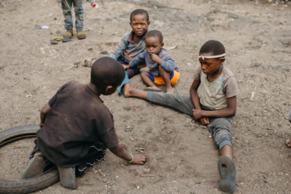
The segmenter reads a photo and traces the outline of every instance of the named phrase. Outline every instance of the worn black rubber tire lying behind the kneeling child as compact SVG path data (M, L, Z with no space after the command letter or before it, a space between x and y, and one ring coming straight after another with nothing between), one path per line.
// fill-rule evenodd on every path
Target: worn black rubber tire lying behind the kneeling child
M17 139L36 136L39 125L13 127L0 132L0 147ZM16 181L0 180L0 193L32 193L51 186L59 181L58 169L50 168L46 172L30 179Z

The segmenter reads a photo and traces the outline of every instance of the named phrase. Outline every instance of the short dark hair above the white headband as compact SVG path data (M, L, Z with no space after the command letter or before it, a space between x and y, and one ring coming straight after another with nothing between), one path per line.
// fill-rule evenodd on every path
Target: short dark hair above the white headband
M221 42L211 39L203 44L199 53L212 53L213 55L221 55L225 53L225 48Z

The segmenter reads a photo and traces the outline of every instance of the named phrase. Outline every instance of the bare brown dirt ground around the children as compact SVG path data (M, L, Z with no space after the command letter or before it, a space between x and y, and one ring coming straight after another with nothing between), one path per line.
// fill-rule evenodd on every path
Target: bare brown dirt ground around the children
M238 80L233 125L236 193L291 193L291 3L238 0L98 1L85 9L86 39L53 45L64 33L60 1L0 0L0 131L39 123L39 109L69 80L89 82L89 67L75 62L112 51L130 31L130 12L148 10L150 26L164 34L182 72L175 93L188 95L200 46L220 40L224 65ZM48 29L39 28L49 26ZM75 30L75 29L74 29ZM73 68L69 68L73 67ZM146 71L144 69L143 71ZM140 76L132 85L143 89ZM164 87L161 87L164 89ZM118 138L130 152L148 157L127 165L107 152L105 161L77 179L74 193L222 193L218 150L193 118L137 98L101 96L114 116ZM128 125L131 132L125 132ZM19 179L33 139L0 149L0 179ZM137 150L137 151L136 151ZM143 176L150 175L150 176ZM72 193L60 183L37 193Z

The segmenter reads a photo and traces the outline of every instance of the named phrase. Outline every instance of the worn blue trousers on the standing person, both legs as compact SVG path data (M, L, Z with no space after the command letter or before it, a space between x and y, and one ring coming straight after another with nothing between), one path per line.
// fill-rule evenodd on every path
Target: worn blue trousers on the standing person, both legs
M67 1L67 2L66 2ZM69 7L68 7L69 6ZM76 30L80 32L83 30L83 15L82 0L62 0L62 12L64 14L64 28L67 31L73 31L72 6L75 7Z

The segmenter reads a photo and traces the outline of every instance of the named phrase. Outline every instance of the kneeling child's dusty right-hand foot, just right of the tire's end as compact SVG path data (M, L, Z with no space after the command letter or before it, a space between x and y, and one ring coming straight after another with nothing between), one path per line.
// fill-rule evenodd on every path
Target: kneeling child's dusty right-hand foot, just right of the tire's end
M75 168L62 168L57 166L60 173L60 183L65 188L77 188Z

